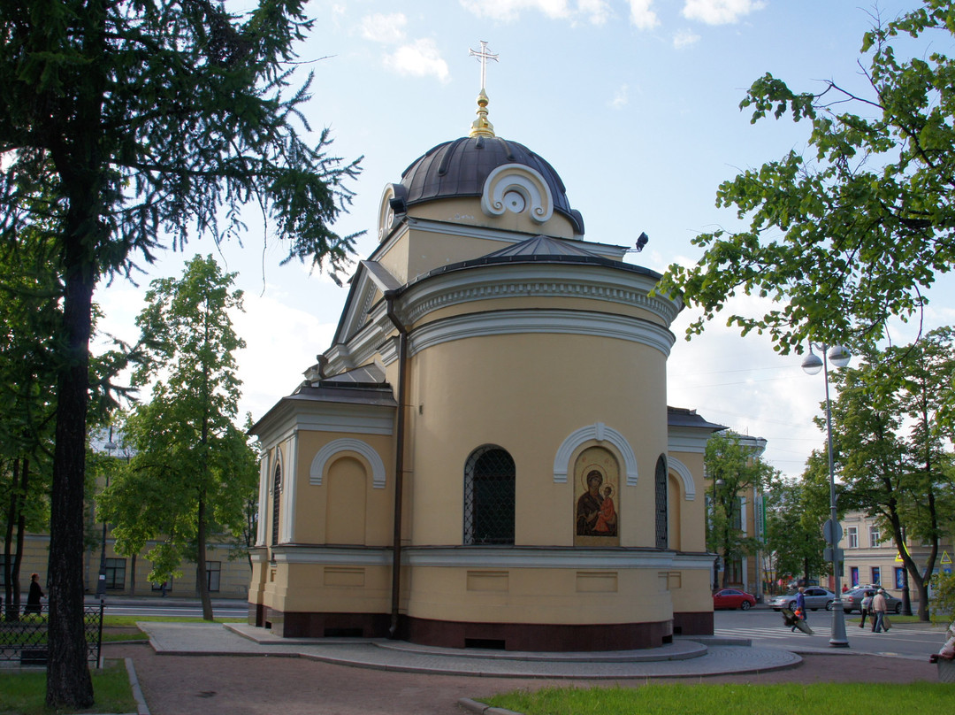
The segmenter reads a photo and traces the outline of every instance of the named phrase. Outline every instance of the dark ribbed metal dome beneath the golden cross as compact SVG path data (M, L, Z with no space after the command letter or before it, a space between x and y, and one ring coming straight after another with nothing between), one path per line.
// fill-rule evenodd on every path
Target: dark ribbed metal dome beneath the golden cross
M561 177L546 160L517 141L500 137L462 137L445 141L412 163L401 175L408 206L433 199L480 196L488 175L505 163L529 166L543 177L554 200L554 210L584 233L581 212L570 207Z

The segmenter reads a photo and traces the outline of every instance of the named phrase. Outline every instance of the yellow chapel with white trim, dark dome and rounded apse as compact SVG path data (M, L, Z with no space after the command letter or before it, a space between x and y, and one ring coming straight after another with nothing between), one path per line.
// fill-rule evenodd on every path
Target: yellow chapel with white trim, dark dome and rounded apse
M722 427L668 408L682 304L584 240L487 104L385 188L332 345L252 428L250 623L517 651L710 634Z

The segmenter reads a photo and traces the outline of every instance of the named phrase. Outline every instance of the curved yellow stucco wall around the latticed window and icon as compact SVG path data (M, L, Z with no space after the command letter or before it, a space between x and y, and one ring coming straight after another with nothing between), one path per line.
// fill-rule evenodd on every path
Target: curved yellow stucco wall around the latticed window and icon
M621 545L654 545L653 472L667 445L660 352L589 336L460 339L415 356L411 395L415 544L461 543L465 461L497 444L518 473L516 543L572 545L575 485L555 484L554 459L571 433L604 422L629 442L640 475L635 487L622 477Z

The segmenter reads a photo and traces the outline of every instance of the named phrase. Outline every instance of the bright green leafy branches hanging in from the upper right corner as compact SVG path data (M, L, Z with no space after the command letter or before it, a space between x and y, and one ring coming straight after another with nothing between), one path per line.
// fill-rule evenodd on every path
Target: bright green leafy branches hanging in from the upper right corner
M875 342L886 320L923 309L955 261L955 60L943 54L953 34L955 3L923 0L865 33L861 89L830 80L799 93L769 74L753 83L741 108L753 122L808 121L807 151L720 185L717 206L749 226L697 236L700 261L671 266L660 285L702 308L688 335L737 293L775 305L727 323L768 331L783 353L808 338Z

